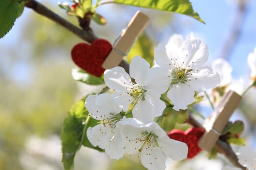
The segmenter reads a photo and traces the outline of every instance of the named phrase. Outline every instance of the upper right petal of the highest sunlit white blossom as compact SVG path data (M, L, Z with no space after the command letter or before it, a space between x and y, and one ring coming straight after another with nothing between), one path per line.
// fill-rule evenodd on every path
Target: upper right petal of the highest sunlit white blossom
M184 62L184 68L197 68L207 62L209 51L205 43L199 39L189 39L183 42L182 52L178 58L181 64Z

